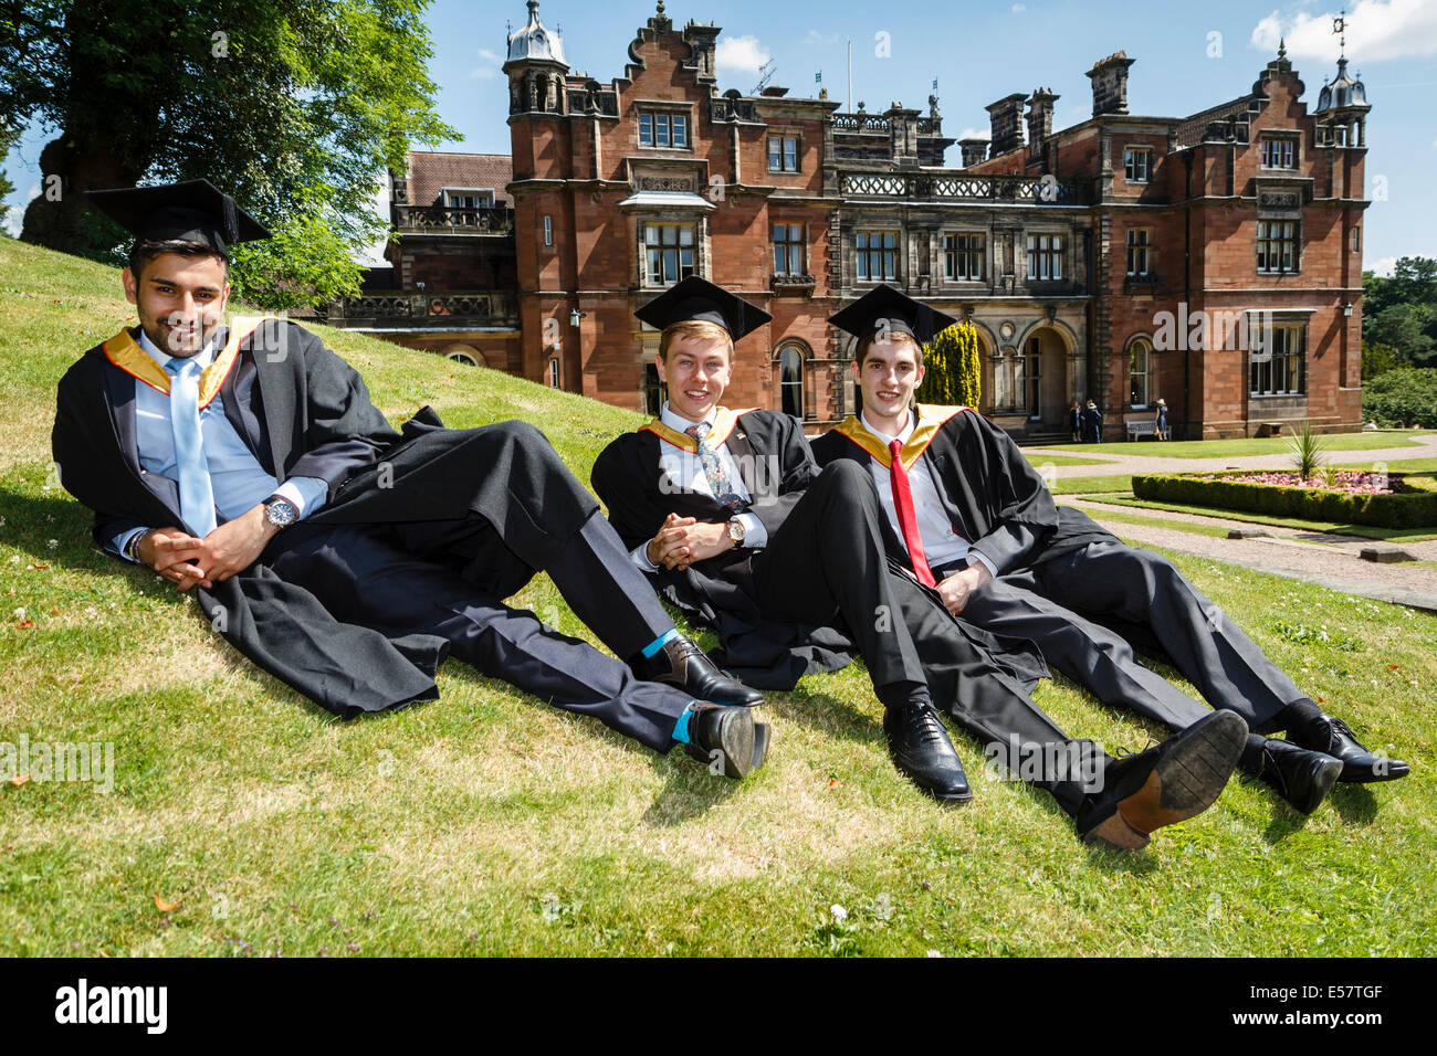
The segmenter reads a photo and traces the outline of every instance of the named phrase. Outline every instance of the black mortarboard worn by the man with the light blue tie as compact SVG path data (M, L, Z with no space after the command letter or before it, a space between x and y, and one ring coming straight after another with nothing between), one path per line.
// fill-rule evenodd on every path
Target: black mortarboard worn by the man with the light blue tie
M270 237L263 224L208 180L85 194L95 208L144 241L194 241L228 256L230 246Z

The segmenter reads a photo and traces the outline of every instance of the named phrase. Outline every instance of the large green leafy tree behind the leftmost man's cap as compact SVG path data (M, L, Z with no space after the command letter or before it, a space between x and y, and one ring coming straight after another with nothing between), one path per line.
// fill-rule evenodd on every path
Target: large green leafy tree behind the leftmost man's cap
M236 254L267 306L358 289L376 181L434 111L428 0L42 0L0 13L0 118L53 129L22 238L103 254L124 234L83 191L204 177L269 224Z

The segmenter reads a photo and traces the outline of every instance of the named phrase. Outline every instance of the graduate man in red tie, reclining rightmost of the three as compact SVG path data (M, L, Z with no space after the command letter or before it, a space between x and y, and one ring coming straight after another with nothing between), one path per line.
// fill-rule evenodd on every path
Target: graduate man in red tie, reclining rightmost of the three
M1213 707L1260 731L1246 738L1242 769L1303 813L1336 780L1407 773L1322 714L1171 562L1055 506L1003 430L971 408L911 407L923 343L956 320L881 286L829 322L858 338L864 412L815 440L813 453L823 466L911 481L910 509L887 503L888 549L950 612L1035 641L1106 704L1190 730L1213 711L1138 664L1129 639L1165 655ZM1279 730L1288 740L1265 736Z

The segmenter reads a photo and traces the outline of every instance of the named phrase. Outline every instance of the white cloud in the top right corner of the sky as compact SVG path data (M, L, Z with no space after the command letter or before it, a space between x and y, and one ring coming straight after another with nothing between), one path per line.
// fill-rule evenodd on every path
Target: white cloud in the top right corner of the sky
M1335 17L1338 11L1288 16L1273 11L1253 27L1249 43L1275 53L1277 42L1286 39L1289 57L1332 62L1338 53L1338 37L1332 32ZM1348 57L1354 62L1437 55L1437 4L1431 0L1358 0L1346 16L1346 42Z

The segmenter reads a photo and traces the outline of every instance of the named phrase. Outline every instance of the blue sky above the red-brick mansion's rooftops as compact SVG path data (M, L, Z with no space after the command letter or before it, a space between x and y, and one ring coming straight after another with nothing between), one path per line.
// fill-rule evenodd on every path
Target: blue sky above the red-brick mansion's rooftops
M846 101L852 40L855 103L881 111L897 101L927 109L937 78L944 131L954 136L970 129L986 135L987 103L1039 85L1061 96L1056 128L1083 121L1092 106L1083 72L1119 49L1137 59L1128 79L1129 109L1158 116L1187 116L1250 91L1276 55L1279 34L1306 83L1303 98L1315 106L1338 56L1331 32L1336 4L1315 1L671 0L665 13L675 26L696 20L723 27L721 91L753 91L759 66L772 60L772 83L790 95L818 95L813 75L822 70L829 96ZM624 72L634 30L652 14L654 3L645 0L543 0L539 9L545 26L560 30L572 70L604 82ZM437 0L430 9L438 109L464 136L444 149L510 149L507 89L499 69L506 20L514 29L527 20L523 0ZM1367 174L1374 204L1367 211L1364 266L1385 270L1400 256L1437 256L1430 194L1437 170L1437 0L1349 0L1346 53L1372 103ZM6 170L17 190L7 205L23 207L37 191L36 161L49 138L27 129L11 152ZM956 147L948 164L958 164ZM11 213L9 223L17 220Z

